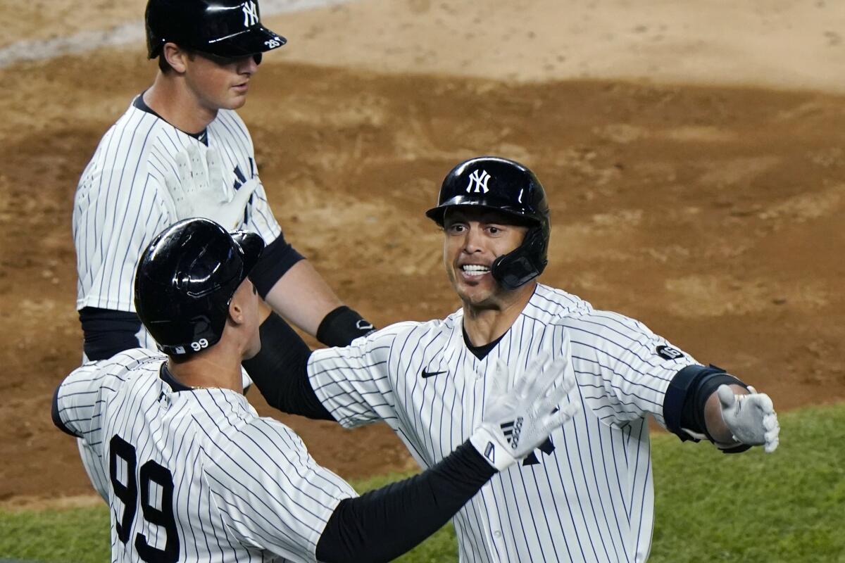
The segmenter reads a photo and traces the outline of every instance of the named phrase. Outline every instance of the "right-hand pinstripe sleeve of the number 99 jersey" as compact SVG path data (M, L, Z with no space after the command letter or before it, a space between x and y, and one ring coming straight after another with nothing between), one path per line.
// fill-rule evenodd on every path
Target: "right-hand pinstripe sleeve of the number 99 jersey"
M335 508L357 496L275 420L254 419L206 452L211 499L240 543L289 560L316 560Z

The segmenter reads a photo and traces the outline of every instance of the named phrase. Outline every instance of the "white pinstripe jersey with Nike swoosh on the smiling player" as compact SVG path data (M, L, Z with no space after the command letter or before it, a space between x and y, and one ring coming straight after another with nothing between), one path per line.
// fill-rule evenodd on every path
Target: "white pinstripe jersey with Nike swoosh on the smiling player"
M315 350L312 387L344 426L385 420L428 467L482 420L495 360L518 377L540 352L571 354L578 385L568 400L581 412L455 515L461 561L646 560L654 498L645 417L664 424L669 381L695 360L671 348L675 359L658 355L667 341L641 322L545 285L483 360L467 349L462 322L459 310Z

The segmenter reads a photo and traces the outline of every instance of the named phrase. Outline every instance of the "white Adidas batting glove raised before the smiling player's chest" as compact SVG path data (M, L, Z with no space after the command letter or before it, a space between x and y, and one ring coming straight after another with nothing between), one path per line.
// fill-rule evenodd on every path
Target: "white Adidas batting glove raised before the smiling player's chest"
M470 436L472 446L494 468L501 471L526 457L578 412L578 404L560 404L575 387L568 364L567 358L541 357L514 382L514 371L499 360L482 423Z

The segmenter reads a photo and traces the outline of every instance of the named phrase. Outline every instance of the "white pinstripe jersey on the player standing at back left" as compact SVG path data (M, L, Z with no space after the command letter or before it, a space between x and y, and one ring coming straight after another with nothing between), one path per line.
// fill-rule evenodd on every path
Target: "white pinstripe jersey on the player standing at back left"
M252 138L235 111L221 110L206 128L208 147L216 147L231 175L230 197L244 181L258 176ZM205 154L206 145L154 114L130 105L103 136L85 167L74 197L76 308L135 311L135 267L155 235L176 222L167 212L165 178L177 180L174 155L188 144ZM242 228L266 244L281 228L264 187L250 198ZM141 328L139 343L155 349Z

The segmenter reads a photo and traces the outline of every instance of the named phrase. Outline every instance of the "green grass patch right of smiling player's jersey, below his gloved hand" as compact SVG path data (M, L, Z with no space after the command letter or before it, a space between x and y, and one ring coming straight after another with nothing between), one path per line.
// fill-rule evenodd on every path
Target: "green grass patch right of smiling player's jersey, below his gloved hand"
M771 455L652 436L651 560L845 561L845 404L778 418Z

